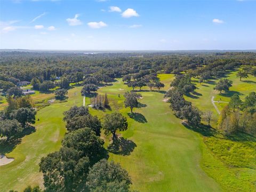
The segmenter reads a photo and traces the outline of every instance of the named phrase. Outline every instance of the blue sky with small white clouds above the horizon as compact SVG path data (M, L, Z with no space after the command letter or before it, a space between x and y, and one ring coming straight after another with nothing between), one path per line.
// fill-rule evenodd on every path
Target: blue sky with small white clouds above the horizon
M256 49L256 1L0 0L0 49Z

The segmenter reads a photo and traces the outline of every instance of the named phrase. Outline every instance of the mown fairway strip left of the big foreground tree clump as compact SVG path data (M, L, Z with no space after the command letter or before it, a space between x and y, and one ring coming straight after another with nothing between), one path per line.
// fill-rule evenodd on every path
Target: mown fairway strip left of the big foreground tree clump
M35 124L36 132L23 137L21 143L11 153L6 154L15 160L0 167L0 191L22 191L28 185L43 187L38 163L41 157L60 148L66 132L62 113L74 105L82 105L80 91L81 87L70 89L67 102L53 103L37 112L36 119L39 118L39 121Z

